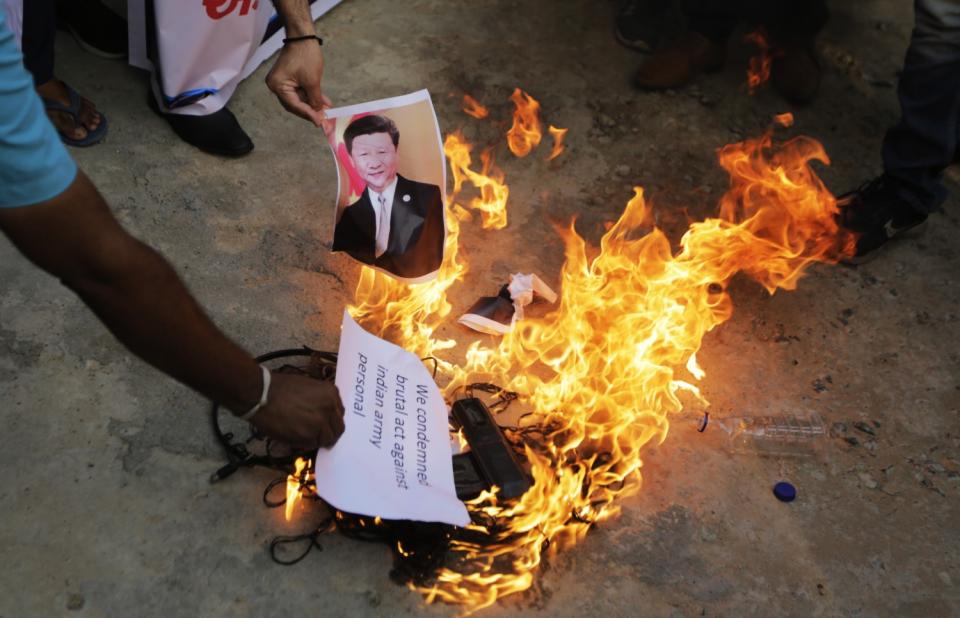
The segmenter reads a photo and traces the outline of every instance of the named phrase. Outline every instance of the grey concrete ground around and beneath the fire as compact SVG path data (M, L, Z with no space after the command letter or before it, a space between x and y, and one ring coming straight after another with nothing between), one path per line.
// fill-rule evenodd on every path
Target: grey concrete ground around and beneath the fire
M820 139L835 191L879 169L897 117L891 88L907 2L833 3L817 102L797 133ZM556 283L561 245L543 224L579 214L591 241L631 184L679 238L726 186L714 150L789 109L748 97L748 50L674 93L631 92L640 57L611 36L612 2L347 0L319 25L338 103L429 88L442 129L479 143L505 126L460 112L469 92L508 118L520 86L569 127L558 161L499 146L511 224L467 225L463 308L510 271ZM239 161L179 142L144 104L140 73L59 41L59 71L109 115L77 160L138 236L177 267L216 322L252 351L335 349L358 269L328 251L335 171L321 135L283 114L261 68L231 108L257 144ZM700 360L716 415L817 411L842 438L806 459L734 455L678 420L651 450L623 515L538 574L536 592L485 615L960 615L958 174L927 235L859 268L820 267L795 292L733 285L733 319ZM388 551L337 536L295 567L266 543L309 527L260 504L265 471L211 486L221 459L206 403L130 357L56 281L0 242L0 616L393 615L421 611L387 578ZM473 335L444 327L462 343ZM868 423L875 435L853 428ZM796 502L776 502L789 479Z

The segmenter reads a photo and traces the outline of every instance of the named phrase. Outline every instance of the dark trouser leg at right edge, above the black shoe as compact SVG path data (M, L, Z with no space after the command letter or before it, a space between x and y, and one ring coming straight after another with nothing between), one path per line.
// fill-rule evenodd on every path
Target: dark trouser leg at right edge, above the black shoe
M960 137L960 0L916 0L900 76L900 122L883 140L883 168L897 193L929 213L946 199L944 168Z

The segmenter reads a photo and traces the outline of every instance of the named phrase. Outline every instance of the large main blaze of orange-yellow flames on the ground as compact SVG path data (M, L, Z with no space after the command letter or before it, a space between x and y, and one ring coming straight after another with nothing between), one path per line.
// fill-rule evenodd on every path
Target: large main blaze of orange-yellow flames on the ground
M451 310L446 292L467 269L457 237L468 211L455 204L457 194L468 180L480 187L470 207L485 222L493 204L497 216L505 208L502 175L470 171L469 149L459 134L448 136L454 194L438 278L404 286L365 268L350 308L368 329L421 356L455 345L434 333ZM501 502L494 491L468 504L485 515L475 521L496 528L470 526L487 534L484 543L453 541L435 582L414 586L428 601L479 609L526 590L544 552L575 544L592 524L617 515L619 499L640 488L644 447L666 438L684 398L706 404L693 384L705 376L696 353L732 315L731 277L743 271L774 293L794 288L811 264L852 253L854 239L835 222L836 199L810 165L829 164L819 143L797 137L775 144L771 129L718 156L730 175L720 214L692 224L677 253L637 187L598 249L573 222L558 228L565 262L556 310L528 317L496 346L472 343L462 366L440 362L448 396L471 382L516 391L531 412L525 422L542 427L543 437L526 444L534 485L522 498ZM502 196L484 191L493 186L503 187Z

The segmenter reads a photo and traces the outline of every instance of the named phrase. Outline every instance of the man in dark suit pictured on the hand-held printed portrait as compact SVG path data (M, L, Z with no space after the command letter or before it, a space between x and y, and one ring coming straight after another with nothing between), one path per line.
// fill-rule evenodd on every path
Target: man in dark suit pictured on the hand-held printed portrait
M380 115L353 120L343 143L366 184L340 214L333 250L404 279L434 273L443 261L443 198L437 185L397 173L400 131Z

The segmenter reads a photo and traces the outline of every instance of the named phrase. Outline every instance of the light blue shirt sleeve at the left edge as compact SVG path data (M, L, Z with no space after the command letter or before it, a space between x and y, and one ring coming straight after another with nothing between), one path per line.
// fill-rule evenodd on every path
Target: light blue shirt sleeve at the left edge
M76 176L0 9L0 208L54 198Z

